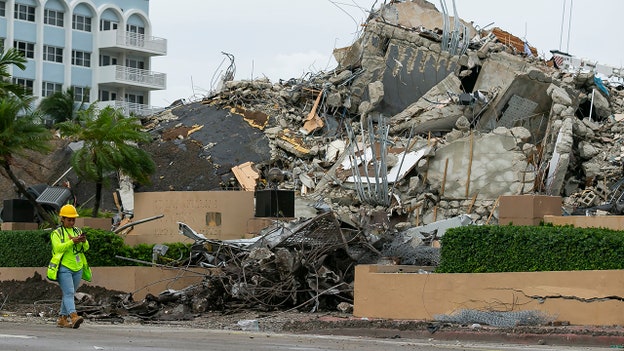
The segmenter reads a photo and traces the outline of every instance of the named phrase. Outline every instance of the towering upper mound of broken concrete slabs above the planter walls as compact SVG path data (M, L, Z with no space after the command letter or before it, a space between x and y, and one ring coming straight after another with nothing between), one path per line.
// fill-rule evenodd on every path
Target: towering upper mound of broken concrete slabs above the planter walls
M460 214L496 223L490 214L501 195L562 195L565 213L606 201L600 192L622 169L619 86L598 88L595 72L557 69L512 34L477 30L448 12L425 1L385 4L353 45L335 50L335 70L278 83L228 80L152 124L162 116L184 124L193 113L198 123L203 106L230 111L269 146L240 163L253 161L259 175L283 169L282 186L371 228ZM454 40L451 24L462 28ZM221 142L203 140L226 183L237 165L216 150ZM359 167L345 162L358 157ZM375 201L364 191L371 185L382 191Z

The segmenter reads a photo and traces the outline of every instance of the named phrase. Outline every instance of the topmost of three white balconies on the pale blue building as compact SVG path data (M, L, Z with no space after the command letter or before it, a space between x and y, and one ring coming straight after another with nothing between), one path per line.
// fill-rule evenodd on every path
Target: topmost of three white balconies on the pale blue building
M141 51L152 55L167 54L167 39L120 30L100 32L100 49Z

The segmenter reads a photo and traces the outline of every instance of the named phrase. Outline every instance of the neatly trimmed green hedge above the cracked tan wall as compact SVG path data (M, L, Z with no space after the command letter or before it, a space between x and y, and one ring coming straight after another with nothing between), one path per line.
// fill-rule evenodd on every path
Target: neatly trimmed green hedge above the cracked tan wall
M464 226L441 239L439 273L624 269L624 232L572 226Z

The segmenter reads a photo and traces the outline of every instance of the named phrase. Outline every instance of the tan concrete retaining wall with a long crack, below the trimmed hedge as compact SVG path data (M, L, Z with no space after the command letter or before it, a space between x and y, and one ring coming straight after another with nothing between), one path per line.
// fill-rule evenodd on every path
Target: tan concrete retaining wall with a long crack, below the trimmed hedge
M624 271L418 274L360 265L356 317L434 320L462 309L539 310L573 325L624 325ZM417 270L416 270L417 271Z

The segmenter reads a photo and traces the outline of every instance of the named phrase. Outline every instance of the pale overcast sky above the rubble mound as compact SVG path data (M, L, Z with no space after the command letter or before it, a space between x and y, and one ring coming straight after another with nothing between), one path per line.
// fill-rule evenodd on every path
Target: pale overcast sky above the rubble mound
M152 105L198 98L215 88L229 64L222 51L235 57L236 80L266 76L276 82L331 70L332 50L353 43L375 3L383 0L180 0L175 5L151 0L153 35L168 41L167 56L152 59L152 70L167 74L167 90L153 92ZM433 4L440 9L440 1ZM452 12L453 1L446 4ZM487 28L526 38L546 59L550 50L560 49L624 65L622 0L456 0L456 5L462 19L480 27L494 22Z

